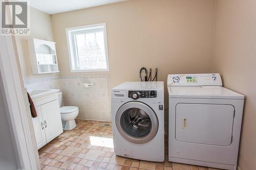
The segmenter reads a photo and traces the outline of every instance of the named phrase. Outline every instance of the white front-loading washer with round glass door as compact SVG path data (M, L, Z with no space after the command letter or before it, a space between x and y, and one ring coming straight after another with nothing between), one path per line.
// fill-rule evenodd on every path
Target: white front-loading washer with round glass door
M164 83L124 82L111 102L115 154L164 161Z

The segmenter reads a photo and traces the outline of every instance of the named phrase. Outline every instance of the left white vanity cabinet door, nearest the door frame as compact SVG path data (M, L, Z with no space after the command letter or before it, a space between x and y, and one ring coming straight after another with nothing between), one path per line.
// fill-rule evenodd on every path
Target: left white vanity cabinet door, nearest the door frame
M47 141L45 135L45 125L42 119L41 107L37 106L35 109L37 112L37 117L32 118L32 122L34 127L37 149L40 149L47 143Z

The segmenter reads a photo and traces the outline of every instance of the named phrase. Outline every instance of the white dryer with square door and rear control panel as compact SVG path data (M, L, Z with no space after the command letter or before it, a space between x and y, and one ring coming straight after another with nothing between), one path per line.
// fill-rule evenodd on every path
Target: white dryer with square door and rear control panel
M219 74L168 75L168 160L237 169L244 96Z

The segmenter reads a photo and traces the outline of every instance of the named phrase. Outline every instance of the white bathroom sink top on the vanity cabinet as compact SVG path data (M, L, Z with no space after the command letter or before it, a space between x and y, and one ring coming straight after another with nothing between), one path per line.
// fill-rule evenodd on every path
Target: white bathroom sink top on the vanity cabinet
M36 89L28 91L36 106L57 100L58 89Z

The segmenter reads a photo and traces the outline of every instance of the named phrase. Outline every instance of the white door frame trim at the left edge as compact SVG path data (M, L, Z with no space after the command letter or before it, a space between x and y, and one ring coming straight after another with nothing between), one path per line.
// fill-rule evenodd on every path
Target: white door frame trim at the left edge
M0 72L18 169L37 169L12 36L0 36Z

